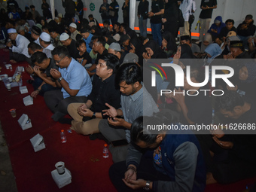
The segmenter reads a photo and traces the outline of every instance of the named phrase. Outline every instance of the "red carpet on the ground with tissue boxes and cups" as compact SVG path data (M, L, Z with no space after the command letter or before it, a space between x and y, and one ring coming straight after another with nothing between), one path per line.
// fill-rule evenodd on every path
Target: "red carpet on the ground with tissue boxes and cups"
M0 50L0 56L2 50ZM17 66L26 66L26 62L13 64L15 71ZM14 74L0 63L2 74L9 76ZM33 91L32 85L27 84L29 75L22 74L23 85L26 85L29 93ZM103 145L101 140L90 141L88 136L77 133L67 133L67 142L60 142L60 131L68 130L69 125L54 122L50 116L52 113L44 103L44 98L38 96L34 99L34 105L25 106L23 97L29 93L20 94L19 87L13 87L11 91L5 88L0 81L0 120L8 142L11 163L16 177L18 191L116 191L108 178L108 168L112 164L111 154L108 159L102 157ZM17 109L17 117L11 117L9 109ZM28 114L32 120L32 128L22 130L17 120L22 114ZM46 148L34 152L29 141L36 134L44 137ZM72 183L59 189L50 172L55 169L55 163L63 161L66 168L72 173ZM242 192L246 184L251 184L255 179L239 181L235 184L211 184L206 187L207 192Z

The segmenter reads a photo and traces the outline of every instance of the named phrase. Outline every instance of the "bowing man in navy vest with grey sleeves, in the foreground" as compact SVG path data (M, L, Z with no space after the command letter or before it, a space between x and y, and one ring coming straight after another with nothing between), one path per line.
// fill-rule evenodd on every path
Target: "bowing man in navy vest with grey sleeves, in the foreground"
M174 123L172 115L161 112L153 117L138 117L133 122L126 161L114 163L109 169L117 191L204 190L206 170L196 136L192 132L184 134L184 130L154 130L157 133L153 133L148 129L148 125L163 123Z

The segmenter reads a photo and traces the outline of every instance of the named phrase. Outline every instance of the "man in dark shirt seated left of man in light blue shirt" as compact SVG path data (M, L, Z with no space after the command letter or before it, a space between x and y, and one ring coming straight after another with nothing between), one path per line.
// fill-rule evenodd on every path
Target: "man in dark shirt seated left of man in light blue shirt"
M31 96L35 98L38 94L44 96L46 91L58 90L55 79L50 75L51 69L59 69L53 59L47 58L45 53L38 51L31 56L31 60L35 64L33 72L37 75L34 76L35 81L32 85L35 91L31 93Z

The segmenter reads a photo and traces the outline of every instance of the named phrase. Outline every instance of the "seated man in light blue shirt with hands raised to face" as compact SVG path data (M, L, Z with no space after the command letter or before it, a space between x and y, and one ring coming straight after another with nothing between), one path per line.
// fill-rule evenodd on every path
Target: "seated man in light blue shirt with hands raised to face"
M52 55L56 66L59 66L59 71L51 69L50 75L62 89L47 91L44 93L44 101L54 113L53 120L59 121L68 114L67 108L70 103L87 101L87 96L92 91L92 81L84 67L70 57L66 47L56 47Z

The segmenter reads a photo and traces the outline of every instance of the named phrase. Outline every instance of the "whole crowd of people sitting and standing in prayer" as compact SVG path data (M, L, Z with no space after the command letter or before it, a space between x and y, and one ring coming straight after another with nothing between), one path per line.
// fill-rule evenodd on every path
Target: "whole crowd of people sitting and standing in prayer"
M153 0L150 9L148 1L141 0L140 36L130 29L129 0L123 2L123 23L118 23L117 1L108 5L103 0L102 28L92 14L89 20L84 18L81 0L77 4L62 0L65 16L56 13L55 18L45 0L43 16L34 5L21 11L15 0L1 0L0 6L1 47L10 50L11 62L28 62L31 96L44 96L53 120L110 144L114 164L109 175L118 191L203 191L206 184L255 176L254 134L227 134L227 130L196 134L180 129L215 123L255 129L256 38L251 14L237 28L232 18L224 23L221 16L209 26L217 1L202 0L196 44L190 36L196 11L193 0ZM152 39L147 34L148 18ZM152 86L151 59L166 59L183 69L183 86L176 86L178 77L172 69L166 70L166 77L156 75L156 87ZM214 82L212 78L200 86L206 73L215 75L206 70L212 66L228 66L233 76ZM231 71L217 70L227 76ZM163 90L173 91L162 94ZM206 90L223 94L214 96ZM148 130L148 124L163 123L175 125L178 132Z

